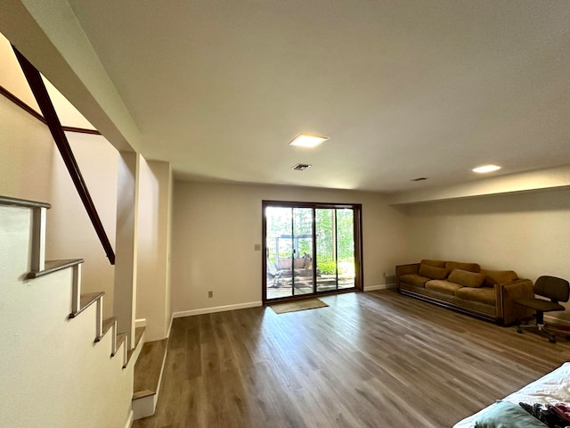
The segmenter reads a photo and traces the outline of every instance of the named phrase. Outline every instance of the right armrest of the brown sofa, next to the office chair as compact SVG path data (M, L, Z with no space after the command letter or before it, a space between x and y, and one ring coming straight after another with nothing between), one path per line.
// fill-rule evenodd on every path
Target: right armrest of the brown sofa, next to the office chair
M519 297L534 297L533 282L530 279L517 279L507 284L495 284L495 299L497 301L497 317L504 325L531 317L533 311L517 305L513 300Z

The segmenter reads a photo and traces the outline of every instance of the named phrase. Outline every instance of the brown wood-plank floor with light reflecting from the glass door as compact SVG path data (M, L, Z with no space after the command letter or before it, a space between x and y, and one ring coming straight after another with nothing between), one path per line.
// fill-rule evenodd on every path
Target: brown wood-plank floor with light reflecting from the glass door
M394 291L322 300L176 318L157 412L134 428L450 427L570 356Z

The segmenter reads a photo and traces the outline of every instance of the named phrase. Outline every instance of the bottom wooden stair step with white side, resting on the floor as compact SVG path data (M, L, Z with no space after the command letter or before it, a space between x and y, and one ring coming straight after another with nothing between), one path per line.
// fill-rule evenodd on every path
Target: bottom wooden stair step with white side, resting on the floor
M159 391L160 378L167 358L168 339L146 342L134 365L133 399L154 395Z

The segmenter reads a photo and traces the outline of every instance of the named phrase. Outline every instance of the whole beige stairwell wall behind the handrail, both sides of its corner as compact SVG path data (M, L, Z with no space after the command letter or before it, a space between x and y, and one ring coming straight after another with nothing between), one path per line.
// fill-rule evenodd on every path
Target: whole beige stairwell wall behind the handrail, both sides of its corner
M0 35L0 85L37 108L9 42ZM48 84L48 86L50 86ZM51 87L51 86L50 86ZM52 95L54 90L51 91ZM88 126L77 111L58 96L64 125ZM102 136L66 133L102 224L115 243L117 151ZM79 200L49 129L0 96L0 194L49 202L46 257L85 259L83 288L106 293L105 314L112 312L114 268L110 265Z

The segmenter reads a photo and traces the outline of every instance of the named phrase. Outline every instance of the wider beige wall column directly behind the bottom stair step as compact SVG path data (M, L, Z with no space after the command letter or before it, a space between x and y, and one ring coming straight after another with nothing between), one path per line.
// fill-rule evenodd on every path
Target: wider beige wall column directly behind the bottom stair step
M170 218L172 171L163 161L140 163L136 318L146 339L167 337L170 324Z

